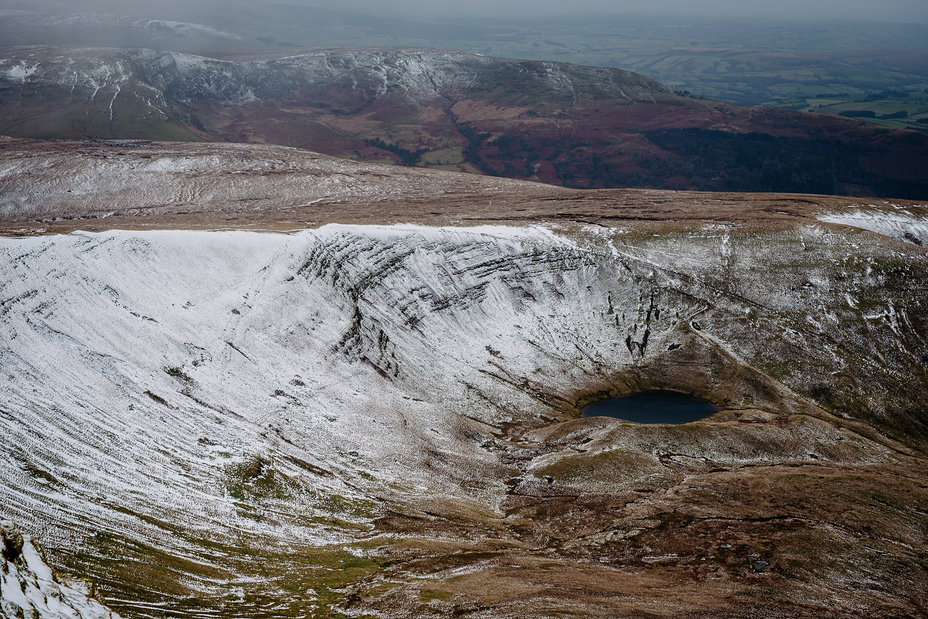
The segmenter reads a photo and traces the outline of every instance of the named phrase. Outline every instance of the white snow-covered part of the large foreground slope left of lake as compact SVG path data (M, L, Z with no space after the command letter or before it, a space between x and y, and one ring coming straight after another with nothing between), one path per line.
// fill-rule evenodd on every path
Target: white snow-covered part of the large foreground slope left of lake
M4 475L15 480L0 490L6 515L146 530L119 506L183 514L204 534L254 528L223 475L266 454L312 491L351 494L343 480L363 483L354 478L364 470L456 492L470 475L461 462L493 464L465 418L481 428L562 418L584 389L686 344L700 315L722 342L741 337L747 312L771 306L808 311L830 335L833 319L816 307L840 320L833 305L852 310L843 288L866 293L831 282L824 297L777 298L752 282L719 297L680 273L705 279L712 262L733 260L747 272L758 256L726 254L731 241L715 233L690 240L685 260L656 241L588 242L538 228L402 226L4 240L0 393ZM894 303L897 315L912 311ZM914 334L900 335L913 346ZM434 451L456 454L436 465L440 475L422 466ZM316 535L287 526L288 536Z

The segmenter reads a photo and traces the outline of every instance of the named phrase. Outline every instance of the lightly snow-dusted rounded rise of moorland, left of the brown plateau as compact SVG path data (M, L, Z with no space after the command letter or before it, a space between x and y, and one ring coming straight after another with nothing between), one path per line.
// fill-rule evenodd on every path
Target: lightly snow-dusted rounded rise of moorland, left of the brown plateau
M19 221L179 211L279 214L320 202L343 212L343 206L332 205L557 192L537 183L361 163L263 144L71 142L33 150L10 142L14 146L0 162L0 218Z

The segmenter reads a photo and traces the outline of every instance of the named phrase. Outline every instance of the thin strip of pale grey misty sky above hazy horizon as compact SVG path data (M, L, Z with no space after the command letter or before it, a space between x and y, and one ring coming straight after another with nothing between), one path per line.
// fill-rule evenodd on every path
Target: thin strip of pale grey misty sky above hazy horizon
M315 0L293 3L328 6ZM663 13L672 16L865 19L928 23L928 0L342 0L339 7L379 14L532 16Z

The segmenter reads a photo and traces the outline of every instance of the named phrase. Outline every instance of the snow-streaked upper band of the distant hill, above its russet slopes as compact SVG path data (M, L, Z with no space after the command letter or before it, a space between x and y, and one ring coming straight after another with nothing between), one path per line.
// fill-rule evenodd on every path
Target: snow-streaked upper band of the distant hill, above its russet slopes
M531 98L539 91L548 102L672 96L657 82L619 69L430 49L328 49L233 62L146 49L12 47L0 55L0 86L3 103L53 93L74 103L123 96L158 114L168 111L167 101L245 103L301 89L374 99L396 94L412 103L449 95Z

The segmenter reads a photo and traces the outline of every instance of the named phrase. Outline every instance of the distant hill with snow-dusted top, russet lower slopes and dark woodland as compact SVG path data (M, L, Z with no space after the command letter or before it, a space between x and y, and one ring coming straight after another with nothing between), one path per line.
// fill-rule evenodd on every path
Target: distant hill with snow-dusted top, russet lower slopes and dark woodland
M569 187L928 198L928 136L915 132L683 96L619 69L294 51L8 47L0 133L273 143Z

